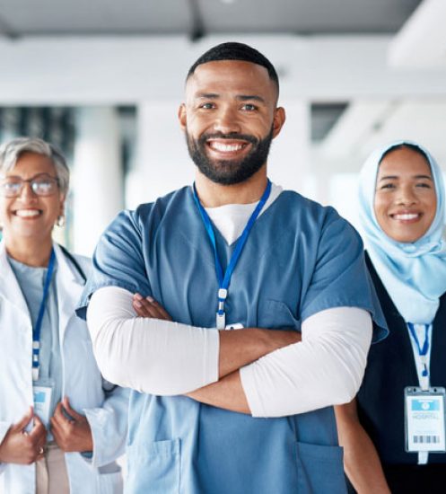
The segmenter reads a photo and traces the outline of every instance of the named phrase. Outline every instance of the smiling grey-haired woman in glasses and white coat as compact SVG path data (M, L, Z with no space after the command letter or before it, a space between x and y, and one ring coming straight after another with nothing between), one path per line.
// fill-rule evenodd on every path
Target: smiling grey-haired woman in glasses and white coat
M127 391L104 381L74 313L90 262L52 241L69 171L48 143L0 148L0 491L122 491Z

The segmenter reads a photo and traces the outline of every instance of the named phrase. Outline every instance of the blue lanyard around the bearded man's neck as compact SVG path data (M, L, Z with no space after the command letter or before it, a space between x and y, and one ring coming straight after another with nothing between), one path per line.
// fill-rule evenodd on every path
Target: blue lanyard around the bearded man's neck
M243 247L245 246L245 243L248 240L249 232L251 231L252 226L256 222L256 219L258 218L260 211L265 206L265 203L267 202L267 199L269 198L270 193L271 193L271 182L268 180L267 181L267 188L265 189L265 192L263 193L262 197L258 201L257 207L254 209L252 215L249 217L248 223L245 225L245 228L244 228L242 234L240 235L239 240L235 244L235 248L234 248L234 251L232 252L231 260L229 261L228 267L226 268L224 275L223 275L222 263L220 262L220 259L218 258L217 244L215 242L215 234L214 234L214 228L212 226L211 218L206 213L206 209L202 206L200 199L198 198L198 195L197 195L197 189L196 189L195 184L194 184L195 202L197 204L201 218L203 219L203 223L205 224L207 235L208 235L208 237L212 243L212 246L214 248L215 272L217 275L218 287L219 287L219 289L218 289L218 309L217 309L217 313L216 313L217 330L224 330L224 328L226 327L224 303L226 301L226 297L228 296L228 287L229 287L229 284L231 283L232 273L235 269L237 261L240 258L241 251L243 250Z

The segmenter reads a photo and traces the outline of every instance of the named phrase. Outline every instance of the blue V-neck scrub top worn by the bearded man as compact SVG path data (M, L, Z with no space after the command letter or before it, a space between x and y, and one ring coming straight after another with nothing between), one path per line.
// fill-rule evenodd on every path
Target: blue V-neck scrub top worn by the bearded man
M225 269L234 248L215 229ZM215 326L214 251L186 187L122 212L101 236L82 305L101 287L153 296L176 322ZM233 272L226 322L300 331L330 307L355 306L386 323L363 243L332 207L284 191L253 226ZM133 392L127 492L289 494L345 492L333 408L275 419Z

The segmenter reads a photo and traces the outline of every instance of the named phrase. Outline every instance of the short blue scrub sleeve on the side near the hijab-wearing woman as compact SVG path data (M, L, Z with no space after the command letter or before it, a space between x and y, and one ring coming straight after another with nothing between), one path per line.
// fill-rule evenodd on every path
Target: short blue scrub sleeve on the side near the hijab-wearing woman
M302 321L333 307L359 307L372 315L373 342L382 340L387 323L365 265L363 241L332 211L321 230L316 264L302 300Z

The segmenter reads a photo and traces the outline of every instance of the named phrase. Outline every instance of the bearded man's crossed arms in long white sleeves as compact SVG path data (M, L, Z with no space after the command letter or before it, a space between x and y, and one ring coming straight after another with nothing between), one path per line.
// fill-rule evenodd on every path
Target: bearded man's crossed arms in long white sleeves
M104 287L87 313L101 372L121 386L279 417L350 401L361 383L372 338L362 309L310 316L301 340L297 331L217 331L137 317L133 303L127 290Z

